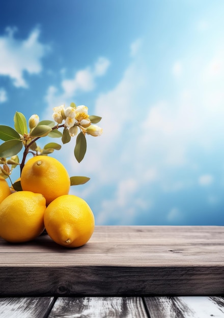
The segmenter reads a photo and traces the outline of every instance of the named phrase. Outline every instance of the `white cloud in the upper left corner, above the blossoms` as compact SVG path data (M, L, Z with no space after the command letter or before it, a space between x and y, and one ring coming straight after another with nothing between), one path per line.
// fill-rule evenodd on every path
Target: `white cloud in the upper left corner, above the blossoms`
M8 27L7 34L0 37L0 76L9 76L16 87L28 87L24 72L39 74L42 71L41 59L49 47L40 43L39 28L34 28L25 40L14 38L16 30Z

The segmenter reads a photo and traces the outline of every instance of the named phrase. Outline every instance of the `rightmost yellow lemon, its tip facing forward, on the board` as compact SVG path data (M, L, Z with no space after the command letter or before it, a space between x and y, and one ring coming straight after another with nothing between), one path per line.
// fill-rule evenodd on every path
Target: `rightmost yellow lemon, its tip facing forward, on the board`
M73 195L52 201L44 213L44 225L51 239L63 246L86 244L94 231L94 215L87 202Z

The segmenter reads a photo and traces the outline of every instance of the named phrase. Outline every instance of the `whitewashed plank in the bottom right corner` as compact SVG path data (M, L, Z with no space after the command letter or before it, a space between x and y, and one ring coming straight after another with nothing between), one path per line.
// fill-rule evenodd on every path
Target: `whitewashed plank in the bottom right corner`
M222 297L146 297L151 318L224 317Z

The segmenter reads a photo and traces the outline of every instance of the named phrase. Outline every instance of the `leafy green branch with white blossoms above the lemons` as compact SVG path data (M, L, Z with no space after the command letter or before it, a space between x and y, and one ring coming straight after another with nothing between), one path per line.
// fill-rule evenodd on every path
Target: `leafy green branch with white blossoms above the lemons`
M7 178L16 166L20 166L20 174L25 165L28 153L36 155L48 155L54 150L60 150L61 145L55 142L48 143L41 149L37 141L42 137L61 138L62 143L70 142L76 136L74 156L80 163L86 154L87 140L86 134L100 136L102 129L96 125L101 117L88 115L86 106L78 106L74 103L65 108L64 105L53 108L52 120L39 121L38 115L29 118L29 130L25 116L16 112L14 115L14 128L0 125L0 139L4 141L0 145L0 174ZM61 132L59 129L63 129ZM78 134L79 129L79 134ZM22 161L19 163L18 153L23 150ZM10 157L10 158L9 158ZM9 158L7 160L7 158ZM9 168L11 165L11 169ZM71 177L71 185L83 184L89 180L87 177Z

